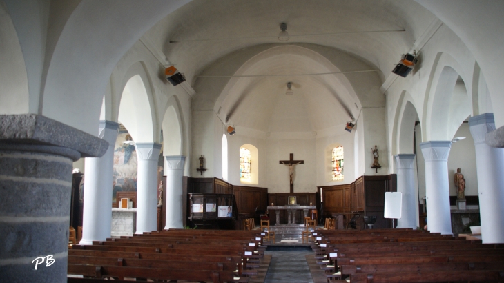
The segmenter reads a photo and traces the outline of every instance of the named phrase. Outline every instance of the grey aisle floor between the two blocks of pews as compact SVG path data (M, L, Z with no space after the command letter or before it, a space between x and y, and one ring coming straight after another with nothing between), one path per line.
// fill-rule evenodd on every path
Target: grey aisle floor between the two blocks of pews
M313 251L266 251L273 255L264 283L313 283L305 255Z

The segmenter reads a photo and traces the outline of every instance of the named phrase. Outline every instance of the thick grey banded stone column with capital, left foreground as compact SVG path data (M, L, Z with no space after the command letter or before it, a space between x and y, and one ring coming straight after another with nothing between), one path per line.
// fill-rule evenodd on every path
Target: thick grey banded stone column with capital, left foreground
M1 282L67 281L72 162L107 146L40 115L0 115Z

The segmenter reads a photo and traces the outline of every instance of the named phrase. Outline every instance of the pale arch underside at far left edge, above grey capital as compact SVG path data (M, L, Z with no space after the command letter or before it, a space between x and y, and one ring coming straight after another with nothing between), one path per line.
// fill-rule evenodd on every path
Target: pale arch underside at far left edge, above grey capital
M37 113L38 99L30 101L28 74L23 51L19 45L16 29L10 18L6 4L0 1L0 113ZM30 105L30 103L32 105Z

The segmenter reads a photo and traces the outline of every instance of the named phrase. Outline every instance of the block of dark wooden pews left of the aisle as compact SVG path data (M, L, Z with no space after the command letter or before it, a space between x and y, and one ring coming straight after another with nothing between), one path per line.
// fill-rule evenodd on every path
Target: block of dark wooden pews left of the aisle
M263 237L260 231L170 229L75 245L68 250L68 282L248 282L264 255Z

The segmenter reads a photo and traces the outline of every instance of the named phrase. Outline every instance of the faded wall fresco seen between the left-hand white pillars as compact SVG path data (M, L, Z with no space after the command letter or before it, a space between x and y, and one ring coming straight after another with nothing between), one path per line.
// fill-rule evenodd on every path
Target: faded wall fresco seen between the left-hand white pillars
M117 191L137 191L137 150L128 133L119 133L115 140L112 202Z

